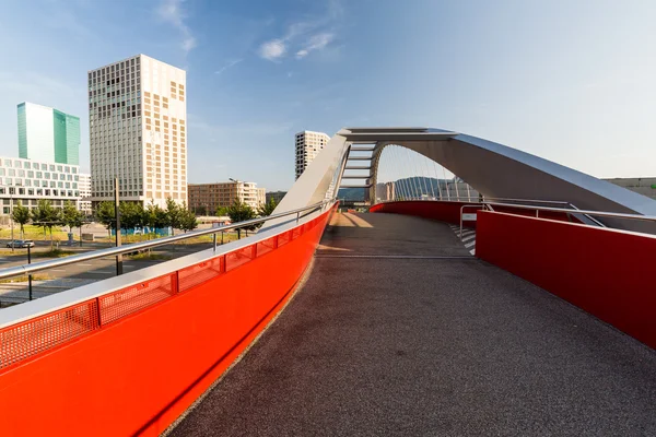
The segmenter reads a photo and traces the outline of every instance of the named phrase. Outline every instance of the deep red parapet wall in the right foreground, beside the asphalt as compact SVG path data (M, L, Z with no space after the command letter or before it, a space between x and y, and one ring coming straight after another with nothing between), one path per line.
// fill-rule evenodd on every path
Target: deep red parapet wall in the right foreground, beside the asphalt
M483 211L476 255L656 349L656 236Z

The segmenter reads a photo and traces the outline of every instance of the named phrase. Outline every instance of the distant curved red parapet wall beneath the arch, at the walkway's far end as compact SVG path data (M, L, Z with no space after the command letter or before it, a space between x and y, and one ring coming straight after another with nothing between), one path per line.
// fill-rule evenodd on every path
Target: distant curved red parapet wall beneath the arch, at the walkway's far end
M440 200L402 200L398 202L377 203L370 212L414 215L418 217L440 220L446 223L460 224L460 210L464 205L477 205L476 202L448 202ZM465 214L473 214L480 209L466 208ZM476 222L465 221L462 226L476 227Z

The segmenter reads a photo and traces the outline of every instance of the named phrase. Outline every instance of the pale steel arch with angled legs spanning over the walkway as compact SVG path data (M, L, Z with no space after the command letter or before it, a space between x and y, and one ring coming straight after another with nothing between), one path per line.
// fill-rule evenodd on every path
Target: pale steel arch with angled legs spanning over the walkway
M308 166L288 192L277 212L333 197L349 147L375 144L370 198L374 198L383 149L398 144L411 149L458 175L485 197L567 201L581 209L656 215L656 201L605 180L480 138L431 128L344 128ZM655 233L651 223L612 222L610 225Z

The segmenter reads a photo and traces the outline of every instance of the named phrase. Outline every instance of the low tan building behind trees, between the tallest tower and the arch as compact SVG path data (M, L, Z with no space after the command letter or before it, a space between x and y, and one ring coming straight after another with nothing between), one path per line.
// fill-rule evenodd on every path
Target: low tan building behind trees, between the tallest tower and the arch
M189 184L189 210L194 212L214 214L219 206L230 206L235 200L257 209L265 203L266 189L243 181Z

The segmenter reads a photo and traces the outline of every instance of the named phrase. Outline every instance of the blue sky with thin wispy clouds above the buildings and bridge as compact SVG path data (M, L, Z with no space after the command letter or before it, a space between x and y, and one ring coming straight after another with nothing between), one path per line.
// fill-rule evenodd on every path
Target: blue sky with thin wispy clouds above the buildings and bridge
M656 2L31 0L0 14L0 154L23 101L81 117L86 71L187 70L189 181L293 184L293 134L430 126L598 177L656 176Z

